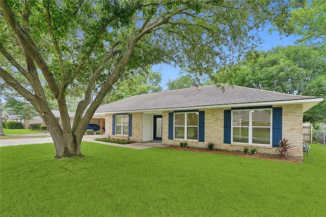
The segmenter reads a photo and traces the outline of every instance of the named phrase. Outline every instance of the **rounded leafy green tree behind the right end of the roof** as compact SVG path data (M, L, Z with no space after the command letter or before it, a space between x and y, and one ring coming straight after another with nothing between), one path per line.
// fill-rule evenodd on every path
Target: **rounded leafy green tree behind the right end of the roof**
M326 97L326 60L314 47L275 47L242 62L236 68L234 85L281 93ZM254 57L254 58L253 58ZM220 77L219 72L216 77ZM321 102L304 114L304 121L322 121L326 103Z

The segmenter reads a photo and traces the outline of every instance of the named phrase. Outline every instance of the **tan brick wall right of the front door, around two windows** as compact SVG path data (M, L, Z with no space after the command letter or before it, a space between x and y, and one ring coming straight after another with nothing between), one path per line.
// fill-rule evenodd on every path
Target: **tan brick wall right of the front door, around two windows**
M280 106L278 106L280 107ZM282 106L282 138L291 142L293 148L289 150L289 157L303 158L303 113L302 104L291 104ZM179 146L180 142L187 142L189 147L207 148L208 142L215 144L215 149L231 150L241 152L244 147L257 148L258 154L277 155L276 147L266 147L264 145L250 144L224 144L224 110L231 108L214 108L205 111L205 142L192 140L169 140L169 112L163 113L162 143L167 145Z

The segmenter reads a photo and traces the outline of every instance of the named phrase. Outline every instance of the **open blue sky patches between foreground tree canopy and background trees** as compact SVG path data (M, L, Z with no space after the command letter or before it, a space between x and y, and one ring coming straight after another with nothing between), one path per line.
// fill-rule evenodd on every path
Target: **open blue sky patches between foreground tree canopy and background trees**
M259 36L262 39L262 44L257 48L257 50L269 50L273 47L276 46L287 46L287 45L293 45L294 41L298 39L298 37L294 36L280 36L278 32L273 32L272 34L269 34L267 32L268 28L271 26L267 26L264 30L262 30L259 33ZM173 80L179 77L179 68L174 68L171 65L166 65L166 64L158 64L154 65L152 67L153 71L159 71L162 74L162 82L161 86L163 89L167 89L166 83L168 82L169 79Z

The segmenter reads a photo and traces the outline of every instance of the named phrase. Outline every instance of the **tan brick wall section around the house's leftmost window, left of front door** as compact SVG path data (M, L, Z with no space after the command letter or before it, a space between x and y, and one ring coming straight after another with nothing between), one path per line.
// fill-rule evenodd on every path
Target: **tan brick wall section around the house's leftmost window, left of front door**
M143 113L130 113L132 115L132 133L130 141L143 140ZM112 135L112 114L105 115L105 137L110 139L128 140L128 135Z

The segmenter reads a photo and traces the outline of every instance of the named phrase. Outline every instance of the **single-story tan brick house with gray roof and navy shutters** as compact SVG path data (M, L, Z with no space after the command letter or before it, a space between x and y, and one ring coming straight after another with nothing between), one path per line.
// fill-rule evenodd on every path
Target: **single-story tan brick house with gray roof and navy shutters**
M197 90L186 88L131 96L99 106L95 116L105 115L106 137L162 144L242 151L258 149L277 154L278 141L294 146L292 157L303 157L303 113L321 97L298 96L225 85Z

